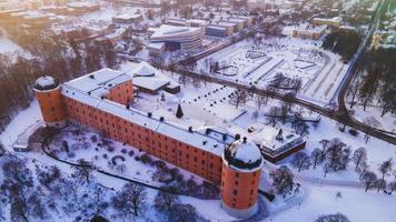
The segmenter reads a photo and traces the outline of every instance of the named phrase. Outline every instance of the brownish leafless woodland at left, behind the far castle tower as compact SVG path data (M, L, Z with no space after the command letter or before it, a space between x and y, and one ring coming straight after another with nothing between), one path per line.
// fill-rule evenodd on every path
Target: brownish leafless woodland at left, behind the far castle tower
M32 85L40 75L67 81L103 67L117 64L110 41L76 42L50 31L8 30L24 54L0 54L0 131L33 98Z

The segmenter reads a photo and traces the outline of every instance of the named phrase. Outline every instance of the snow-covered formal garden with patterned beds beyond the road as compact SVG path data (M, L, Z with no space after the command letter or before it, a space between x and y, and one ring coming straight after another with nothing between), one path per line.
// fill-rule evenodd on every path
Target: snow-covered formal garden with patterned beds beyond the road
M251 82L258 88L273 83L277 74L300 79L299 95L326 104L347 67L339 56L320 49L319 44L320 41L289 37L264 38L258 44L247 39L199 60L196 70L209 73L210 63L218 62L219 75L230 81Z

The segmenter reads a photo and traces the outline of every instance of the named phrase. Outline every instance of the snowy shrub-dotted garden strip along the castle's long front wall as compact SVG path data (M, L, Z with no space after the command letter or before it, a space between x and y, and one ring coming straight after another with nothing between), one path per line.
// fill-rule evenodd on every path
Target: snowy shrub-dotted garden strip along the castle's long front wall
M69 152L65 151L66 144ZM156 164L154 163L160 161L159 159L147 155L152 160L146 162L141 158L145 152L139 151L139 149L103 138L79 127L71 125L63 129L61 133L53 138L49 148L53 151L53 154L62 160L75 163L83 160L92 163L100 170L120 176L138 180L158 188L167 185L167 183L160 182L159 178L154 179L157 172ZM177 167L167 163L167 168L174 169ZM179 171L185 180L194 176L197 183L200 184L202 182L202 179L194 173L182 169L179 169ZM166 176L165 179L169 179L170 176L169 174L164 175ZM171 182L176 182L176 179L172 179Z

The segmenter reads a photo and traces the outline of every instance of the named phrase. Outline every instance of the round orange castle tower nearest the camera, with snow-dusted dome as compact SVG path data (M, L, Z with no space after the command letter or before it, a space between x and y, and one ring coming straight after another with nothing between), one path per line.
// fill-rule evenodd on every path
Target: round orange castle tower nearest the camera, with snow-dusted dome
M260 150L246 138L232 142L225 149L221 206L228 214L246 219L257 212L258 184L263 164Z

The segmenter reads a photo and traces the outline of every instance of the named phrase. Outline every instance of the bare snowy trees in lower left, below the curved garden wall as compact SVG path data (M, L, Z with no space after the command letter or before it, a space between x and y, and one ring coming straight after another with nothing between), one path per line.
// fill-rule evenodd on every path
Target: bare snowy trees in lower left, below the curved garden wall
M76 167L68 174L12 155L0 157L0 221L56 221L65 215L72 221L149 220L148 191L139 184L126 183L115 191L97 183L91 168ZM207 221L175 194L160 191L152 202L162 221Z

